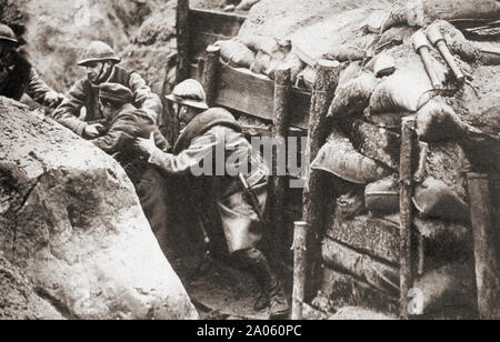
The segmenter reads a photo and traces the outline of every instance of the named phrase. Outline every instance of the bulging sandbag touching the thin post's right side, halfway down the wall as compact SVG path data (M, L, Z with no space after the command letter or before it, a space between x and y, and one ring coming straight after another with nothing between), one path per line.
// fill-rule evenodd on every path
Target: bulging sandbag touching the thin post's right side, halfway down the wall
M451 188L433 178L428 178L417 187L413 203L423 217L451 222L470 222L469 205Z

